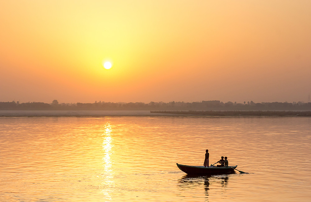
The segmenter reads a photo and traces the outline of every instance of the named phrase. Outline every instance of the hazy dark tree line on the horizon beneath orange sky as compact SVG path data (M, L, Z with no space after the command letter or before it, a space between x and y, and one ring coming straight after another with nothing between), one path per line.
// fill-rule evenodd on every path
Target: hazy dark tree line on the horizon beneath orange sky
M219 100L201 101L201 102L150 102L150 103L113 103L96 102L95 103L58 103L53 100L52 103L28 102L19 103L18 101L0 102L0 110L233 110L233 111L254 111L254 110L285 110L285 111L309 111L311 103L303 102L272 102L272 103L254 103L253 101L236 103L220 102Z

